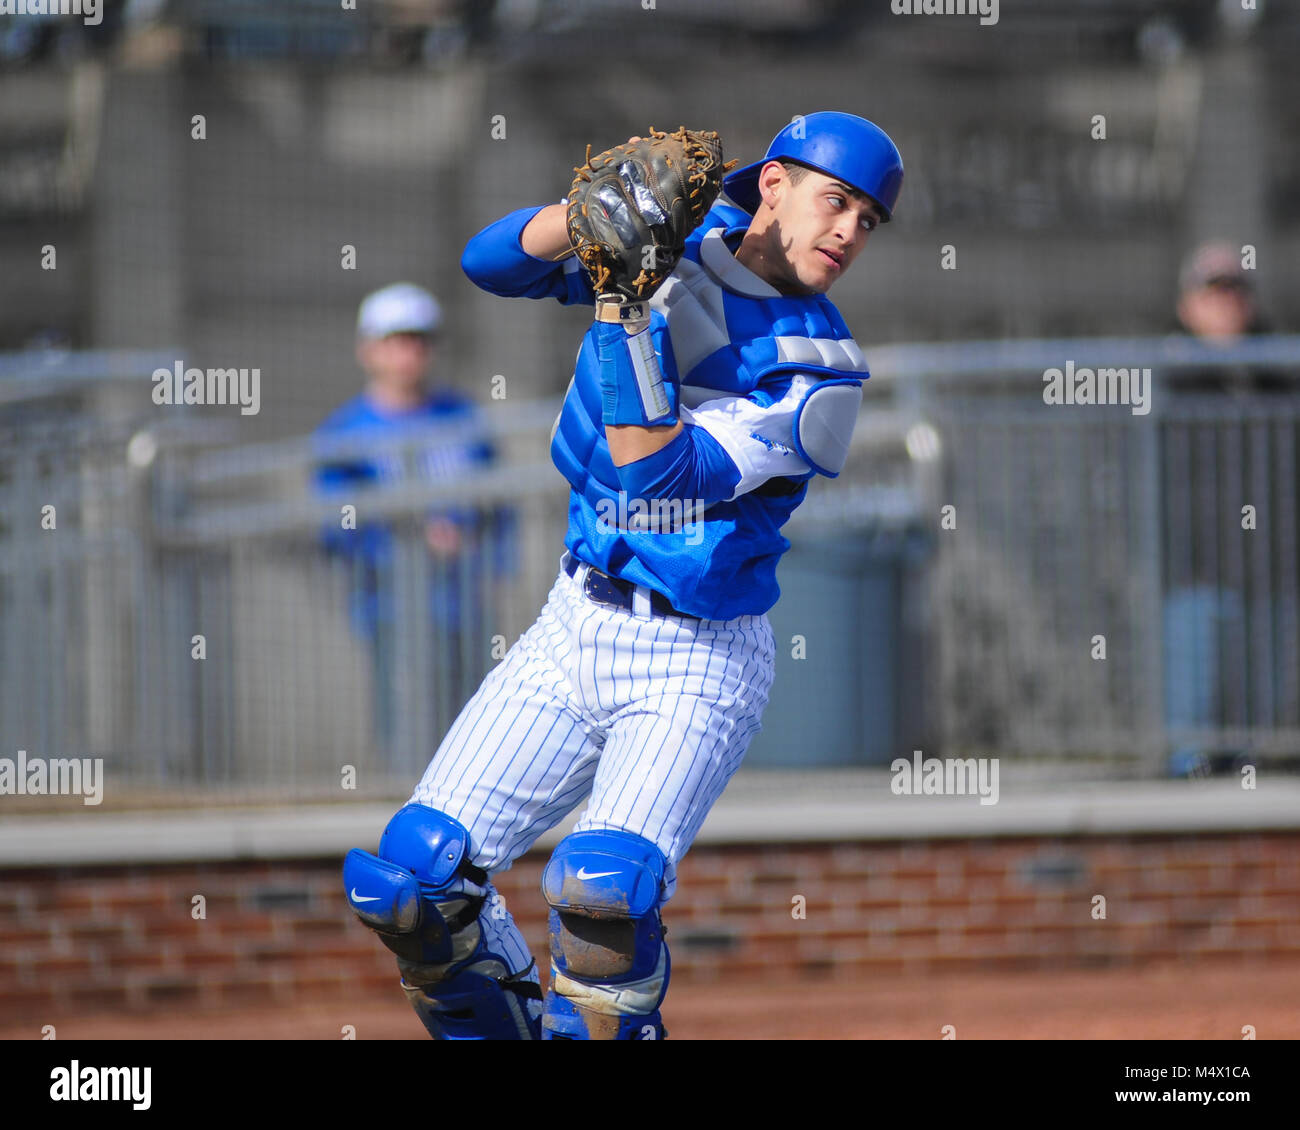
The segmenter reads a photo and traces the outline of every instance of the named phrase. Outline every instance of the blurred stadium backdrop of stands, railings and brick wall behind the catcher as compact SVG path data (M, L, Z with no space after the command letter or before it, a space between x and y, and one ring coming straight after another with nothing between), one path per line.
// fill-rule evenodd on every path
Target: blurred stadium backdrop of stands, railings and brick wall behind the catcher
M1265 0L1035 0L988 27L888 0L0 17L0 757L107 772L94 808L0 796L0 1035L308 1006L324 1035L361 1009L420 1034L338 865L554 579L546 446L584 328L476 291L460 250L560 199L588 142L686 124L750 160L823 108L885 126L907 179L833 294L872 378L849 468L788 529L764 729L667 912L670 1027L1300 1035L1297 47L1300 9ZM1176 333L1209 238L1257 250L1268 333ZM391 537L361 577L322 537L312 433L360 390L358 303L396 280L442 303L436 381L498 459L359 495ZM1067 359L1150 367L1150 412L1045 404ZM260 411L155 404L177 363L257 368ZM437 558L446 507L478 533ZM998 804L894 796L913 750L997 758ZM558 834L500 884L540 954ZM866 1026L887 982L940 971ZM998 971L1040 988L979 997ZM1052 978L1093 974L1130 980L1067 1014ZM822 1027L824 980L845 1016ZM793 1027L748 1010L792 983ZM1123 1012L1143 984L1165 990Z

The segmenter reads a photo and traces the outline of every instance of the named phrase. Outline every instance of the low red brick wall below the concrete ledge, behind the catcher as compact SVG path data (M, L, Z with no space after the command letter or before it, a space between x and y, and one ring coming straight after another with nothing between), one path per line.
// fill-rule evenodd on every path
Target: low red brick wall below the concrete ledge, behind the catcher
M542 964L543 862L498 876ZM701 845L666 921L679 984L1300 957L1300 835ZM338 860L0 873L0 1023L394 987Z

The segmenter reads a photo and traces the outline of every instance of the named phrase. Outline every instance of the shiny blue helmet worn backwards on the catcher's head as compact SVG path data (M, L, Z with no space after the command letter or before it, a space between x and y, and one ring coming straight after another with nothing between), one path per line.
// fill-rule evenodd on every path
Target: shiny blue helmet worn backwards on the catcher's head
M727 195L746 212L758 211L758 173L768 161L798 161L844 181L875 200L887 221L893 217L902 187L902 157L889 134L866 118L838 111L796 117L772 138L762 161L723 179Z

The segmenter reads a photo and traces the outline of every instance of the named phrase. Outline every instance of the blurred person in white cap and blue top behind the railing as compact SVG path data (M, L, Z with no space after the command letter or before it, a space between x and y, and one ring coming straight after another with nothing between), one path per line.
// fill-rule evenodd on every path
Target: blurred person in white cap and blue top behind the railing
M376 736L390 766L396 766L402 753L415 758L428 753L407 748L420 728L398 716L396 697L404 674L396 663L403 644L399 629L410 632L420 622L396 594L394 567L403 549L402 532L395 524L365 520L364 492L412 480L459 479L495 458L474 404L454 390L428 385L441 324L437 300L419 286L395 283L367 296L356 326L365 389L316 430L318 489L358 510L356 529L332 525L325 545L351 564L352 624L370 645ZM425 515L421 532L429 566L421 631L434 633L433 675L448 688L446 709L454 713L462 706L463 689L481 676L477 670L462 670L462 654L467 642L476 655L486 648L485 640L474 638L474 625L482 614L481 581L499 566L503 531L495 521L481 520L477 511L445 507ZM428 703L433 728L426 740L436 741L436 688L420 687L408 701Z

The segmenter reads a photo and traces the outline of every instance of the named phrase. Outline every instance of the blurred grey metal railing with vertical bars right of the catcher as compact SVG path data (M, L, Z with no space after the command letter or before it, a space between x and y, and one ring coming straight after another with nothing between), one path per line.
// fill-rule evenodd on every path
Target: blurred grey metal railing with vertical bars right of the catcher
M1149 772L1300 759L1300 337L871 360L944 442L939 745ZM1046 403L1067 363L1098 374L1093 399L1106 367L1149 369L1148 401Z

